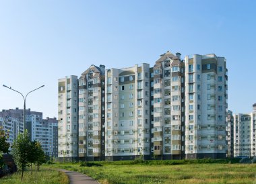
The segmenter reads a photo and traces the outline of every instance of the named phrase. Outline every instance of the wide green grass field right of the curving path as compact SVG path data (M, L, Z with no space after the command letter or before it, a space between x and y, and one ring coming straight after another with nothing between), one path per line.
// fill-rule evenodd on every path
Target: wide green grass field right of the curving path
M166 160L168 163L168 160ZM256 183L256 165L226 163L166 164L165 161L96 162L102 166L57 163L48 167L84 173L100 183Z

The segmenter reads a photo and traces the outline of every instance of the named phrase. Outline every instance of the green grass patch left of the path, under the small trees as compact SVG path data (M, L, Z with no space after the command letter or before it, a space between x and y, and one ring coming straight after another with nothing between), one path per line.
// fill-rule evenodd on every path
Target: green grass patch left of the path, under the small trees
M17 172L13 175L9 175L0 179L1 184L11 184L11 183L36 183L36 184L45 184L45 183L69 183L69 179L65 173L61 171L56 171L55 169L49 169L46 167L40 167L39 172L33 171L31 175L30 170L24 172L23 181L21 181L22 173Z

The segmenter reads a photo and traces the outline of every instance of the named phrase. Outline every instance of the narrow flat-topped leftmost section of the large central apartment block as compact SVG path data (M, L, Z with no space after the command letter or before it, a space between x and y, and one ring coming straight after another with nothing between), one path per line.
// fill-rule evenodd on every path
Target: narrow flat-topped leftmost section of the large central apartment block
M59 79L58 157L65 160L78 156L77 86L77 76Z

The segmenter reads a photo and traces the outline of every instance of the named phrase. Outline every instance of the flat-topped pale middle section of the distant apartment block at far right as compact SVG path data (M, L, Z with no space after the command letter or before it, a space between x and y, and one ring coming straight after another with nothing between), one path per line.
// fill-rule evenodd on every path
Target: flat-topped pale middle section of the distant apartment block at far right
M234 114L234 156L251 156L251 113Z

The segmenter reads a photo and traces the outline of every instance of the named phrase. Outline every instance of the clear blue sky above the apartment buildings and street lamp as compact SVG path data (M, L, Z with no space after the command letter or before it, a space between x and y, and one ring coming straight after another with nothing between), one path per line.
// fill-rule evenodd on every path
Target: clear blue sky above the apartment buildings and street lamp
M224 56L228 109L256 103L256 1L1 1L0 85L31 93L27 107L57 117L57 82L91 64L152 66L167 50ZM23 107L0 86L0 109Z

